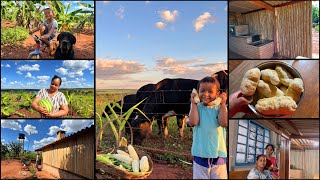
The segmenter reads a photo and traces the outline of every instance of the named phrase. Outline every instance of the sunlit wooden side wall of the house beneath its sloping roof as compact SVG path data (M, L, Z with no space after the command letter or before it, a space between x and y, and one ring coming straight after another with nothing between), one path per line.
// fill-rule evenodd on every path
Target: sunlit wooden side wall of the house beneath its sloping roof
M43 163L94 178L94 132L76 136L43 150Z

